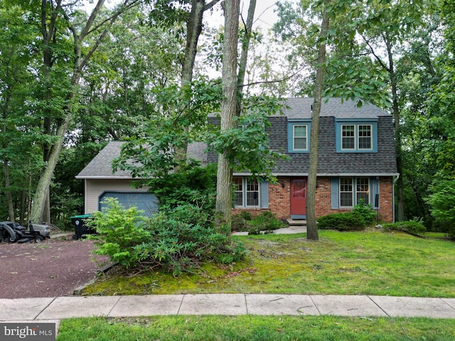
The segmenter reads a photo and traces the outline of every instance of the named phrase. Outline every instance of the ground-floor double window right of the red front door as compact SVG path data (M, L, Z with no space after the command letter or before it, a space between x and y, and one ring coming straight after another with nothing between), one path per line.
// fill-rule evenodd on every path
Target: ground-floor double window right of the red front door
M340 178L340 207L370 203L369 178Z

